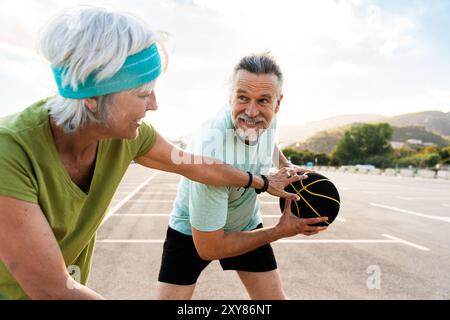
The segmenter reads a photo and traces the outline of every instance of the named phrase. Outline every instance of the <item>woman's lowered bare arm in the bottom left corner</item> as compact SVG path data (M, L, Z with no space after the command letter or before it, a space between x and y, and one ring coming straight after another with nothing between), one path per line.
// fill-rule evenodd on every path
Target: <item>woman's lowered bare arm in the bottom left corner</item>
M36 204L0 195L0 260L31 299L103 299L70 277Z

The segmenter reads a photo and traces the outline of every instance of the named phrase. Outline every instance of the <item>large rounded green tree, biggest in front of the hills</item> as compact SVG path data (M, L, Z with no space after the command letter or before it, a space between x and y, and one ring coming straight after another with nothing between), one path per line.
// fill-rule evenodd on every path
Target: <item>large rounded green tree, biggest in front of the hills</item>
M380 157L386 158L386 163L393 160L394 151L390 141L393 129L387 123L354 125L344 133L333 153L341 164L373 164L383 163Z

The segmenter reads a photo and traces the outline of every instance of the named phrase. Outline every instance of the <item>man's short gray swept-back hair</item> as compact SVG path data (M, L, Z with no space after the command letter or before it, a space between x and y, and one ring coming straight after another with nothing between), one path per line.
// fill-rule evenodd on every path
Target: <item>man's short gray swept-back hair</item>
M233 77L235 79L236 74L240 70L245 70L254 74L273 74L278 79L278 91L281 93L283 88L283 73L281 68L276 62L270 51L261 53L255 53L243 57L238 64L234 67Z

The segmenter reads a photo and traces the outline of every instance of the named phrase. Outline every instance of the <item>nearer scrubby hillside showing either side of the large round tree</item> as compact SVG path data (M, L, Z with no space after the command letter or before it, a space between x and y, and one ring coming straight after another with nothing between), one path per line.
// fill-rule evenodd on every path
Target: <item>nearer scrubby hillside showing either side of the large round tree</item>
M305 141L298 142L291 146L296 149L310 150L316 153L330 153L344 136L344 132L350 127L351 125L346 125L335 129L320 131ZM405 142L408 139L419 139L423 142L434 143L439 148L449 145L447 139L436 133L427 131L424 127L393 127L393 129L393 141Z

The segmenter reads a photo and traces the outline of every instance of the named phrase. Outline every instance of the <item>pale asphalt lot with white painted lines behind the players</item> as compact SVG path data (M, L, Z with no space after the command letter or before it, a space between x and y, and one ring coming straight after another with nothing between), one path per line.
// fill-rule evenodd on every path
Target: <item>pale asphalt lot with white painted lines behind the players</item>
M317 236L273 243L291 299L450 299L450 180L323 172L341 196ZM108 299L153 299L180 177L130 166L97 235L89 287ZM264 224L278 199L260 196ZM182 266L181 266L182 267ZM248 299L217 261L194 299Z

